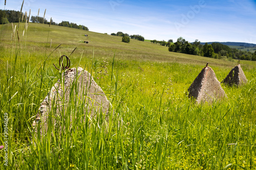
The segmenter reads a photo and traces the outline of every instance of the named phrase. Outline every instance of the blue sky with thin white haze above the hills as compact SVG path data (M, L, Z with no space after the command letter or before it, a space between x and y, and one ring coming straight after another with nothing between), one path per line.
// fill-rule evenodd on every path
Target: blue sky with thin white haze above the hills
M20 10L22 0L7 0L1 9ZM84 25L99 33L140 34L145 39L193 42L234 41L256 44L256 1L252 0L25 0L23 12L59 23Z

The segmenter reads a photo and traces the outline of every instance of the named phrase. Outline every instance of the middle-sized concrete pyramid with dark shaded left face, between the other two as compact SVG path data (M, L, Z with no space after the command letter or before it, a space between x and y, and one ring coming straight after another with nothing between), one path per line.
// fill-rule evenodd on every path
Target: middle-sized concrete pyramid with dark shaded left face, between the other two
M196 99L197 103L211 103L214 100L226 97L214 70L208 66L208 63L190 85L188 92L188 97Z

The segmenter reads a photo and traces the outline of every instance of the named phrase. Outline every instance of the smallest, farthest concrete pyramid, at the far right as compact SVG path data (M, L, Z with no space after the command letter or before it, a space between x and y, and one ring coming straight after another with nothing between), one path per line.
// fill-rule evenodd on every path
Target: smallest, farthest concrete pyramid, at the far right
M247 79L244 75L244 71L241 68L240 64L233 67L229 72L229 74L227 75L227 77L221 83L225 83L229 86L232 86L232 85L241 86L243 84L246 84Z

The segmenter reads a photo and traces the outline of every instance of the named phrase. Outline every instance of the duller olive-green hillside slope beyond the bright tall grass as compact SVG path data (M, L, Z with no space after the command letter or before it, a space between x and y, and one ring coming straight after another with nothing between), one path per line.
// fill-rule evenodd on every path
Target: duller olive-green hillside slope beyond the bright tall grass
M18 27L18 23L13 23L14 27ZM11 47L13 42L10 41L12 36L11 23L0 25L1 42L4 47ZM17 30L17 29L16 29ZM96 57L113 57L116 59L136 60L136 61L154 61L154 62L177 62L202 64L210 62L216 65L233 65L233 62L206 58L201 56L186 55L181 53L173 53L168 51L168 47L159 44L153 44L144 41L131 39L130 43L121 42L122 37L101 34L92 31L84 31L61 26L51 26L40 23L29 23L27 33L23 36L24 23L19 26L19 40L26 41L26 46L31 56L45 56L50 53L54 47L62 43L60 47L61 53L71 53L77 47L74 55L80 56L83 52L86 56ZM88 36L84 36L87 34ZM14 38L17 39L17 33ZM82 43L89 41L88 44ZM51 45L50 45L51 43ZM24 44L25 45L25 44ZM46 48L51 46L51 48ZM31 50L30 50L31 49ZM34 49L37 49L36 51ZM4 55L4 54L2 54ZM251 61L243 61L244 63L253 63Z

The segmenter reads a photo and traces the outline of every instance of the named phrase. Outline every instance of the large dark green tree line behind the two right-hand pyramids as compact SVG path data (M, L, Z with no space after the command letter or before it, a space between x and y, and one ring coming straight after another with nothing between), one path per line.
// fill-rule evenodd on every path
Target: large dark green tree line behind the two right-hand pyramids
M254 53L239 51L236 48L230 48L221 43L211 43L204 45L198 39L190 43L182 37L177 39L177 42L171 44L168 48L169 52L177 52L184 54L191 54L197 56L204 56L216 59L240 59L240 60L253 60L256 61L256 51Z

